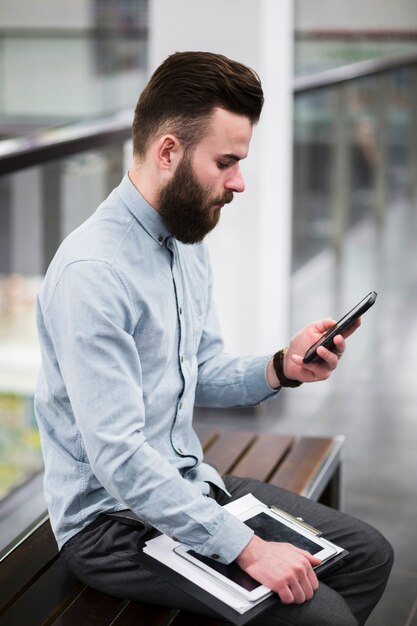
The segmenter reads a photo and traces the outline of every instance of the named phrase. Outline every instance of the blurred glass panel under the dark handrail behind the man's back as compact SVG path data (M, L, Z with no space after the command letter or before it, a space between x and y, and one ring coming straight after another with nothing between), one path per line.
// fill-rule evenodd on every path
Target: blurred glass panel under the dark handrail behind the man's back
M33 393L43 274L62 239L120 181L125 150L112 145L0 177L0 499L42 469Z

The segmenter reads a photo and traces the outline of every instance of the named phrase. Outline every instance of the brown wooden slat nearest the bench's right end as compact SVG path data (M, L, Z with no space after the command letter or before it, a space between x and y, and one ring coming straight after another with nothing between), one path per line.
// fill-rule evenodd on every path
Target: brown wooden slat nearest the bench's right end
M303 494L333 446L329 437L301 437L270 478L270 483Z

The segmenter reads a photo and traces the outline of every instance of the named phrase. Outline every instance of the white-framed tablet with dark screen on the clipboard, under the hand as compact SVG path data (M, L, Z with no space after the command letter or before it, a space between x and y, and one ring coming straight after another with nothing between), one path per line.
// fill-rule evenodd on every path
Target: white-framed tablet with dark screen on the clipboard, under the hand
M318 537L308 528L301 526L295 518L294 522L292 522L290 519L279 515L279 513L262 504L245 511L238 518L252 528L261 539L292 543L298 548L314 554L321 559L321 562L331 558L340 551L338 546L328 542L323 537ZM260 600L272 593L270 589L244 572L237 563L230 563L229 565L218 563L214 559L197 554L197 552L184 545L177 546L175 552L246 600Z

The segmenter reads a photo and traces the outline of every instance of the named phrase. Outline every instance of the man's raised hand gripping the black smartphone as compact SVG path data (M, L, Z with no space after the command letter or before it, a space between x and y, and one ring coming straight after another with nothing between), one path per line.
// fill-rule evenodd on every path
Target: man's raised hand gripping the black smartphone
M361 320L356 320L354 324L343 335L336 335L333 339L335 349L332 352L323 346L317 348L319 360L311 363L304 363L303 357L308 348L315 343L322 335L335 325L335 321L326 318L318 322L312 322L298 331L291 339L288 350L284 357L284 374L292 380L299 380L303 383L311 383L319 380L327 380L333 370L336 369L340 357L345 351L345 339L359 328ZM267 369L268 382L272 387L279 387L279 381L275 374L272 360Z

